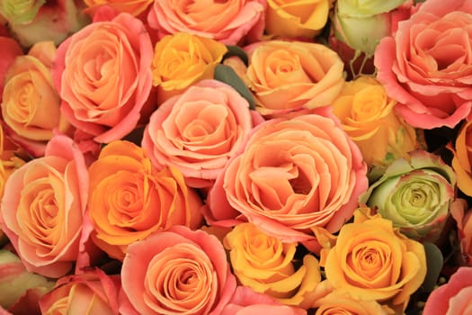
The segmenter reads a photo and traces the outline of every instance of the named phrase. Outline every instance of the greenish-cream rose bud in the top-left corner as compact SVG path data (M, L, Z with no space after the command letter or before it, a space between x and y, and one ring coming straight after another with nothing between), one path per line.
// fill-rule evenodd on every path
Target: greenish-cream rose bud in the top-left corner
M90 23L83 8L82 1L77 0L4 0L0 14L8 22L10 32L27 48L39 41L54 41L58 45L79 31Z

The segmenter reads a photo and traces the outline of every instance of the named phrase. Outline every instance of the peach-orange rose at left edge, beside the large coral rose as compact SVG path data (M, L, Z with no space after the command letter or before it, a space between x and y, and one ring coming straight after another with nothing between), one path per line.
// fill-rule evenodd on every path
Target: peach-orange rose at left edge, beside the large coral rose
M52 82L52 41L41 41L28 55L15 58L5 75L2 107L5 130L31 155L40 157L54 132L70 133L60 113L60 99Z

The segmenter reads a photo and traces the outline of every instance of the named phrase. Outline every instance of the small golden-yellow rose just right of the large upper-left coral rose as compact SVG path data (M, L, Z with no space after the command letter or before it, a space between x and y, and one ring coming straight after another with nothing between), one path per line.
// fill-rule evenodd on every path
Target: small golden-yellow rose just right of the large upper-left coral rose
M152 63L153 85L158 86L158 102L202 79L213 78L215 67L227 47L189 33L177 32L157 41Z

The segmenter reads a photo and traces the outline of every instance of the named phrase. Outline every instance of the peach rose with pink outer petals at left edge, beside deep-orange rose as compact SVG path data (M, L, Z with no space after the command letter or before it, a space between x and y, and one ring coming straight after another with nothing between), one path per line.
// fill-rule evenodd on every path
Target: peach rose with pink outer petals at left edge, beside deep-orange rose
M50 139L45 157L10 175L0 223L29 271L58 278L72 269L86 239L87 198L84 157L66 136Z

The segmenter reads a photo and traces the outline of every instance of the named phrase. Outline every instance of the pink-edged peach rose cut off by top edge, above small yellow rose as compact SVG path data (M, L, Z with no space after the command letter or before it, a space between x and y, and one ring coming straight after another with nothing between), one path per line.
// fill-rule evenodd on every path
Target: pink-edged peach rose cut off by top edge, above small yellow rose
M182 3L155 1L147 15L159 38L178 31L236 45L240 40L260 40L263 35L265 0L229 0Z

